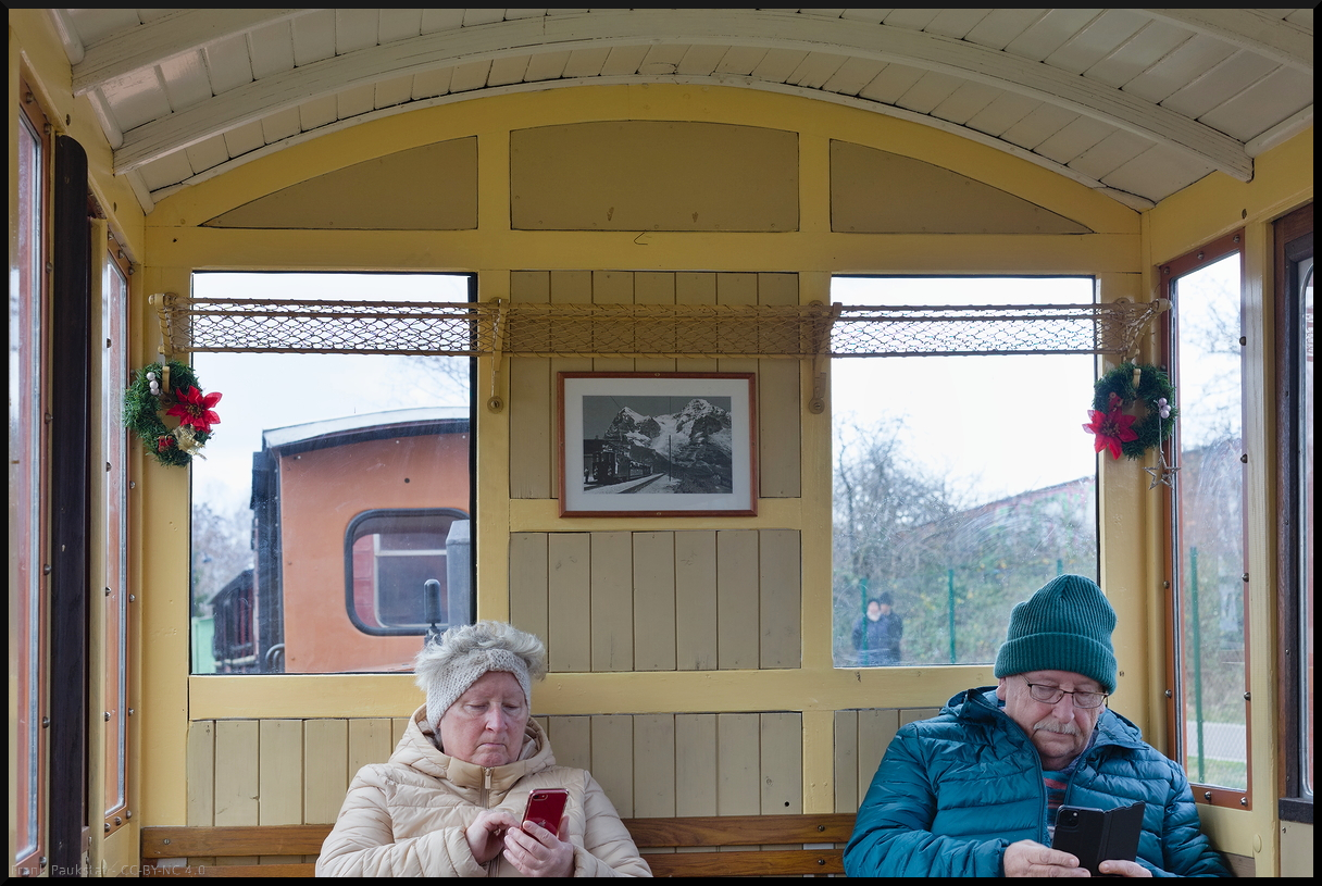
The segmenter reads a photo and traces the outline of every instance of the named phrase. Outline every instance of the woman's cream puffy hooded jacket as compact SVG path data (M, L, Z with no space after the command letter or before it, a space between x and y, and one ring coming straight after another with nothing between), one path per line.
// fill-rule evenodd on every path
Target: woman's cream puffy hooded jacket
M575 877L652 875L602 785L583 770L555 766L537 721L527 721L517 762L484 768L436 750L426 719L424 705L390 762L354 776L321 846L319 877L518 877L504 854L479 865L464 830L496 807L522 819L534 788L570 792L564 816Z

